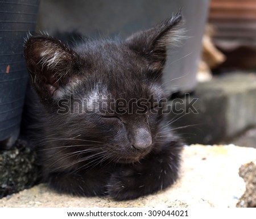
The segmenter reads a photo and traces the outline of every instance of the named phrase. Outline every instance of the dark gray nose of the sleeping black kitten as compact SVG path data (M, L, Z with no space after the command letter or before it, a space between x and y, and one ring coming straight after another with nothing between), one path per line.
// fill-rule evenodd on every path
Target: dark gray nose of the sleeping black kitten
M135 131L133 146L138 150L147 149L152 144L150 132L145 128L138 128Z

